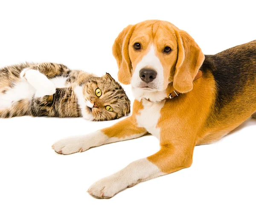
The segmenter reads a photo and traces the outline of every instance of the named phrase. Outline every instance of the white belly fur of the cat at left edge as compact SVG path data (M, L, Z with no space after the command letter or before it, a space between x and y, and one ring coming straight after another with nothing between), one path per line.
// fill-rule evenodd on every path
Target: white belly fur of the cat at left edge
M21 80L12 89L0 94L0 109L7 109L12 106L13 102L21 99L32 99L34 94L35 88L26 80Z

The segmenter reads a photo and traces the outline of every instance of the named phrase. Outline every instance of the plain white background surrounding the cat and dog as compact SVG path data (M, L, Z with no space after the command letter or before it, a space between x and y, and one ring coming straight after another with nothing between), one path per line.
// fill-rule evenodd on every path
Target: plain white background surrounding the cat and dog
M88 1L89 2L89 1ZM93 3L92 3L93 2ZM63 63L117 78L111 47L128 24L167 20L205 54L256 39L254 1L0 1L0 66ZM125 86L131 101L131 86ZM216 144L195 147L192 167L124 190L111 199L86 193L98 179L157 152L152 136L58 155L51 145L116 121L81 118L0 120L1 207L256 206L256 120Z

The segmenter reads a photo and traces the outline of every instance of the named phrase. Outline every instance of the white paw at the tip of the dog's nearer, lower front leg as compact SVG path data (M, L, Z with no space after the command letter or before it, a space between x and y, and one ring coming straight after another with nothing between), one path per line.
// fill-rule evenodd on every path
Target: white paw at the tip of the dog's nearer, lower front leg
M90 186L87 192L95 198L111 198L128 186L116 174L103 178Z

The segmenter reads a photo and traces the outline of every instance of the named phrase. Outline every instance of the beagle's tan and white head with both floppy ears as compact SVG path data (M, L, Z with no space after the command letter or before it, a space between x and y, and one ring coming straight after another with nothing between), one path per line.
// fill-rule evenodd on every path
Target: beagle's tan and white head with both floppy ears
M131 83L136 98L151 99L159 94L156 99L165 98L171 82L180 93L191 91L204 61L203 52L187 32L160 20L127 26L113 44L113 55L119 81Z

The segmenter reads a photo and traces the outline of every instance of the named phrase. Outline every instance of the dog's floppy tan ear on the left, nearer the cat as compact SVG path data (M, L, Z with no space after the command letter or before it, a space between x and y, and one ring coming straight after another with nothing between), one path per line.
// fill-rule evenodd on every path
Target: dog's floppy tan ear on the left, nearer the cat
M118 65L118 80L128 85L131 82L131 60L129 58L128 45L134 25L129 25L116 38L112 52Z

